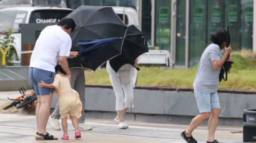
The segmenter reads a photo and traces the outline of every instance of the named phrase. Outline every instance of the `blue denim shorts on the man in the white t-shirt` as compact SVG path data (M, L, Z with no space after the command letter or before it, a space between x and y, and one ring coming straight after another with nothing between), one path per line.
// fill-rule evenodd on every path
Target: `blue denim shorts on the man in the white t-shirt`
M52 71L41 70L39 68L29 67L29 78L31 80L32 86L36 91L36 95L50 95L53 93L54 88L41 88L38 83L41 83L41 80L44 83L51 84L54 81L55 73Z

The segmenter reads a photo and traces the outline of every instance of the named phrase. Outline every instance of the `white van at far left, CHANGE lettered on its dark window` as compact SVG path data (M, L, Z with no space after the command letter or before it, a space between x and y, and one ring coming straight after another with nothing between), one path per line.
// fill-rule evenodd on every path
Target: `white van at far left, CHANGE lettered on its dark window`
M72 9L59 7L9 7L0 9L0 32L12 28L15 37L17 60L14 65L21 63L21 33L19 24L28 23L55 23L67 16Z

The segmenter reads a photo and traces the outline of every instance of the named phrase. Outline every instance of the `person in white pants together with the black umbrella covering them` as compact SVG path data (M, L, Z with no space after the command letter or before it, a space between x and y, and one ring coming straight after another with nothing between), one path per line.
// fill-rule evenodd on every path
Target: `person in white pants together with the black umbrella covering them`
M107 72L116 95L117 116L114 121L119 124L119 129L127 129L124 114L130 107L134 107L133 89L139 70L137 57L148 51L144 34L134 25L130 25L122 45L122 54L107 62Z

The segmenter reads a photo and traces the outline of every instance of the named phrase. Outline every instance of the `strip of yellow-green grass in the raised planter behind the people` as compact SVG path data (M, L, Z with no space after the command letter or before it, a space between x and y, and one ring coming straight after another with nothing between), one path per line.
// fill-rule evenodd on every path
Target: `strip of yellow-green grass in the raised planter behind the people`
M222 81L220 89L226 90L256 90L256 62L242 52L231 54L232 68L228 80ZM165 86L176 88L193 88L197 67L184 70L165 70L160 67L140 67L138 71L137 86ZM85 70L86 84L111 85L109 74L105 68L96 71Z

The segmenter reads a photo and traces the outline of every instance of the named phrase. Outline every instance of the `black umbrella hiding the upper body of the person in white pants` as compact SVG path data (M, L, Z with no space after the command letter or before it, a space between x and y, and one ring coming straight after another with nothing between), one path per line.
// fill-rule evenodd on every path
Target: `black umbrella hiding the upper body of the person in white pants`
M130 25L122 45L122 55L112 58L109 63L117 72L126 63L134 65L135 59L145 52L149 52L149 48L145 42L144 33L140 32L134 25Z

